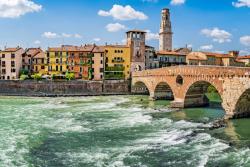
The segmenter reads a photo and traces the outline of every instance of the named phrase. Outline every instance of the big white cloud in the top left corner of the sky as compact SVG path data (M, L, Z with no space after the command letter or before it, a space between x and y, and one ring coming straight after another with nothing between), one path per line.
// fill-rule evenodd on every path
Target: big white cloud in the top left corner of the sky
M0 17L17 18L26 13L39 12L41 5L31 0L0 0Z

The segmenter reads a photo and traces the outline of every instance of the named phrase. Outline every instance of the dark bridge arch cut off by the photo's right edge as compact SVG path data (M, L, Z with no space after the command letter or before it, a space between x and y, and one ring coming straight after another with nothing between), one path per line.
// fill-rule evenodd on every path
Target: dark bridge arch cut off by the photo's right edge
M250 88L245 90L237 100L234 109L234 117L250 117Z

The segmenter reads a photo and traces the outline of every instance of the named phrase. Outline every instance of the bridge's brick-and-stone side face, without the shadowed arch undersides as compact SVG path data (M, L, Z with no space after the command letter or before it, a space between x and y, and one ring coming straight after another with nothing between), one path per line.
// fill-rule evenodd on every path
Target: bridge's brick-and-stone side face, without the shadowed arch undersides
M178 83L178 78L182 79L181 83ZM194 95L201 95L202 93L197 92L203 90L205 85L212 85L222 98L222 106L226 114L233 116L240 97L250 89L250 68L172 66L134 72L132 74L132 91L138 82L145 84L151 98L155 97L157 85L160 83L167 84L174 96L172 104L177 107L185 107L185 103L188 103L187 97L191 98ZM191 87L195 87L193 93L190 91Z

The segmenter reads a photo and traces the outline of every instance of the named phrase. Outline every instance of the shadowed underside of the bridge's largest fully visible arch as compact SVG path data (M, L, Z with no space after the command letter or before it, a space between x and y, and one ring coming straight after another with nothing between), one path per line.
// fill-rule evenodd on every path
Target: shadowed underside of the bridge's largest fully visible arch
M219 94L222 99L222 90L218 85L207 80L196 80L186 86L184 91L184 107L202 107L210 104L206 93L208 89ZM222 103L222 102L221 102Z

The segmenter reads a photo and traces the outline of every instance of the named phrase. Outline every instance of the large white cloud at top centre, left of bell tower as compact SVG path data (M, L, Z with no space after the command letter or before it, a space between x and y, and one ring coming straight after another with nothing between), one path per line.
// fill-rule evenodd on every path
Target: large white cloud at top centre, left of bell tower
M112 16L116 20L146 20L148 16L146 16L143 12L136 11L131 6L121 6L121 5L113 5L112 9L109 11L100 10L98 12L100 16Z

